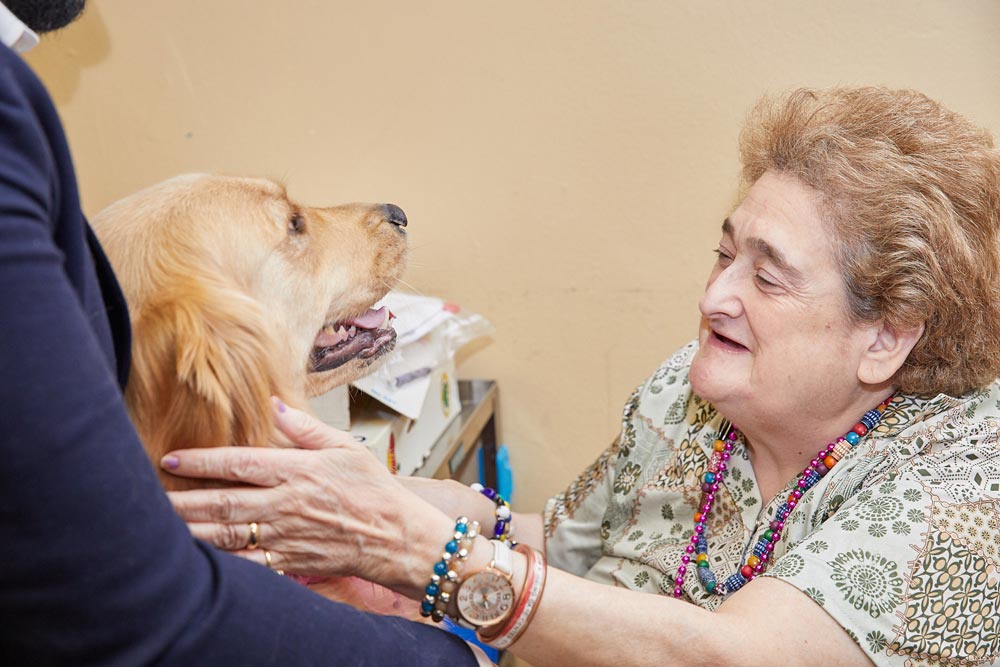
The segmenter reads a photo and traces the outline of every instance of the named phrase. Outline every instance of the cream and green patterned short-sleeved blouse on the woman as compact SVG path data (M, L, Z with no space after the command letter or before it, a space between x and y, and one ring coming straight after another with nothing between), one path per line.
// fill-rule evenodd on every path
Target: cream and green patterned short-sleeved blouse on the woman
M696 350L696 343L682 348L636 390L618 441L548 501L552 565L673 594L698 477L722 423L691 392ZM962 398L897 396L882 422L803 495L766 576L821 605L877 665L1000 662L998 434L1000 381ZM765 505L737 442L707 525L720 581L745 562L793 484ZM694 576L682 588L706 609L724 599Z

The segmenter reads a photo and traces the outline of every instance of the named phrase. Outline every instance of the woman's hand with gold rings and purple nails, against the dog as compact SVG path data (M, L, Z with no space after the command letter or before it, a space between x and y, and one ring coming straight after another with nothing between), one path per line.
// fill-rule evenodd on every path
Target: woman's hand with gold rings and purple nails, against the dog
M171 452L174 475L240 486L169 494L191 532L222 549L302 575L352 575L419 597L454 518L408 491L362 445L273 401L275 423L301 449ZM249 549L250 523L258 544Z

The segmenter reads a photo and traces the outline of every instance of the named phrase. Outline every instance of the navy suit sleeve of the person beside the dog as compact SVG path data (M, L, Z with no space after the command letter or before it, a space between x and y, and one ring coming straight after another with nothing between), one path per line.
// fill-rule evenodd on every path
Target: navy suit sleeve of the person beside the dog
M475 664L192 539L126 414L92 259L69 254L55 112L0 51L0 663Z

